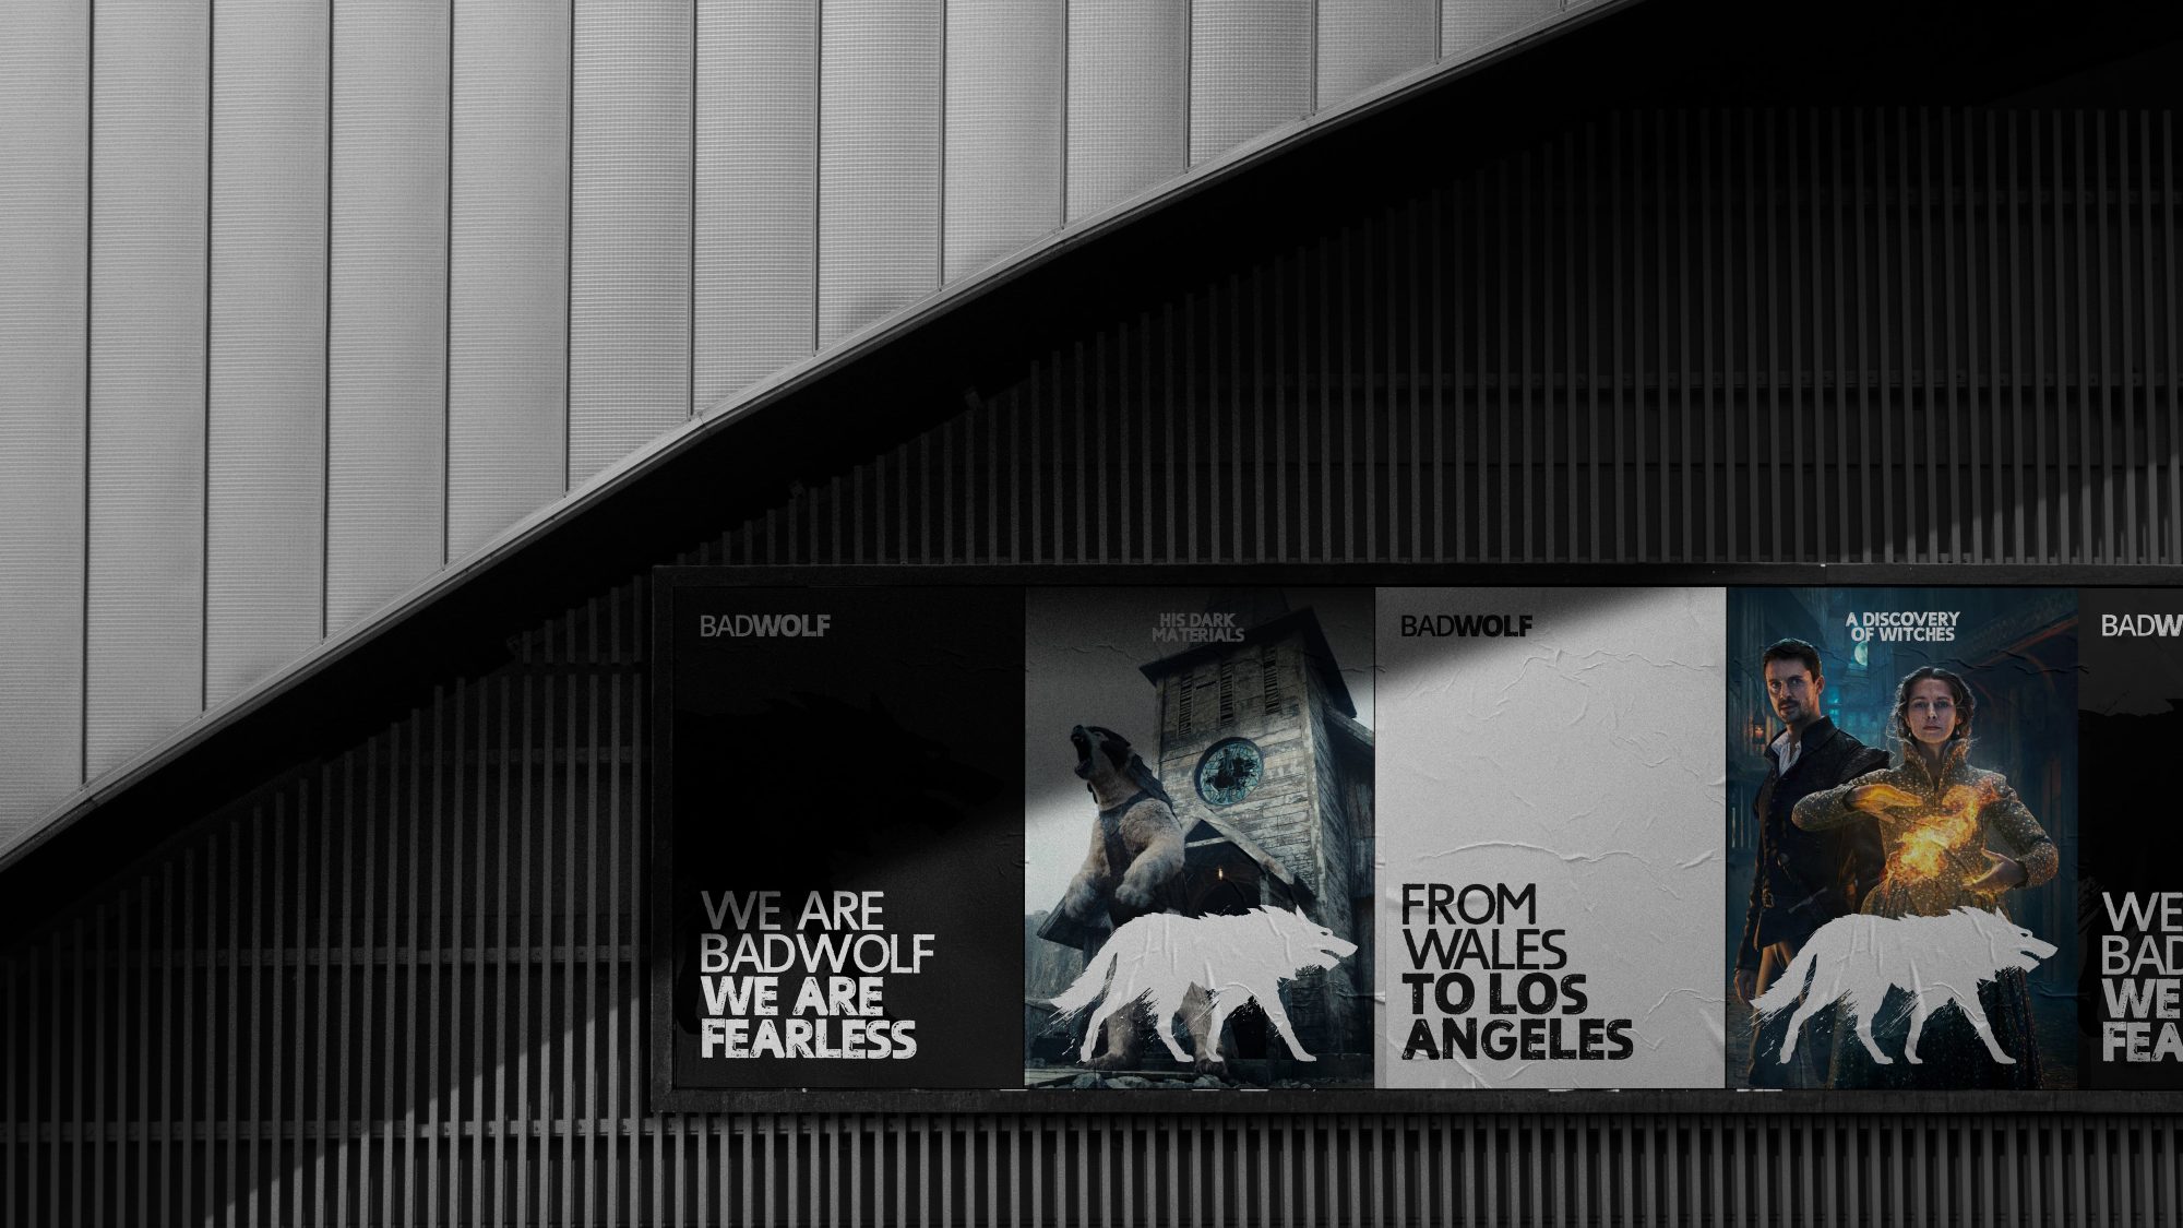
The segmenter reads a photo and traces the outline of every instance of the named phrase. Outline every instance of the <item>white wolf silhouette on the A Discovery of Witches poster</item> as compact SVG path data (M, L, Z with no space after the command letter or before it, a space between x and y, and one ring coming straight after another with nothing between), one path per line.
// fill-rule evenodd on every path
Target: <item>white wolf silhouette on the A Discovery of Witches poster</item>
M1773 1016L1803 996L1803 1005L1790 1016L1788 1040L1781 1042L1781 1062L1788 1062L1797 1053L1803 1025L1827 1003L1840 1001L1842 1009L1858 1016L1858 1040L1864 1042L1864 1051L1886 1066L1895 1060L1873 1040L1873 1014L1880 1012L1888 988L1901 988L1910 994L1904 1062L1923 1062L1917 1055L1917 1040L1925 1031L1925 1020L1947 1003L1956 1003L1987 1042L1987 1053L2013 1066L2017 1060L2002 1051L1993 1038L1993 1023L1978 1005L1978 985L2008 968L2030 972L2048 955L2054 955L2054 946L2032 937L2032 931L2002 913L1973 907L1958 907L1936 918L1851 913L1818 926L1797 959L1764 994L1751 999L1751 1005L1762 1016ZM1805 990L1808 979L1810 990Z

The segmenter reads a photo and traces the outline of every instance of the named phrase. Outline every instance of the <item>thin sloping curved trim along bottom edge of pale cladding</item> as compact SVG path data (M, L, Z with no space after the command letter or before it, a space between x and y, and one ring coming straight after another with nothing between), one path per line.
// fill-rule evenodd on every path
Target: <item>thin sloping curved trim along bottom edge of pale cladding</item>
M530 516L517 520L498 538L478 546L463 559L448 564L445 568L432 572L424 581L415 583L380 610L358 618L343 631L327 636L317 647L295 658L286 666L273 671L271 675L258 680L238 695L225 699L216 708L205 710L190 723L181 725L159 743L146 747L144 752L131 756L127 763L107 769L96 780L72 791L57 806L46 811L39 819L0 846L0 874L17 865L24 857L35 852L39 846L50 841L61 830L76 824L81 817L98 811L116 795L127 793L135 784L151 778L155 771L177 763L190 749L216 736L218 732L231 728L240 719L258 712L273 699L279 699L299 686L308 684L312 677L325 673L336 662L356 653L358 649L382 638L393 627L415 618L419 612L448 599L452 592L469 586L478 575L522 555L533 544L541 542L548 533L581 518L587 509L605 503L609 496L629 489L631 485L646 479L653 470L661 468L677 454L694 448L701 441L718 437L723 430L731 428L736 422L749 417L751 413L788 400L825 376L854 367L875 350L882 350L912 332L919 332L928 323L943 319L963 306L978 302L1002 286L1067 256L1081 247L1087 247L1100 238L1107 238L1120 229L1131 227L1140 219L1157 214L1179 201L1185 201L1216 184L1222 184L1238 173L1266 164L1281 153L1288 153L1301 144L1319 140L1327 133L1340 131L1358 120L1382 114L1397 107L1419 94L1441 87L1460 76L1474 74L1480 68L1500 63L1519 50L1535 44L1559 37L1583 24L1589 24L1607 13L1635 7L1639 0L1576 0L1567 4L1561 13L1532 22L1519 31L1511 31L1498 39L1480 44L1460 55L1441 59L1439 63L1428 63L1404 76L1395 76L1349 98L1325 111L1303 116L1277 129L1268 129L1216 157L1201 162L1183 170L1181 175L1140 192L1126 201L1109 205L1092 216L1067 223L1043 240L1006 256L978 273L963 278L950 286L941 286L932 295L917 299L915 304L880 319L838 345L812 354L810 358L795 363L766 376L764 380L740 389L712 406L694 413L681 426L651 439L627 457L613 461L594 474L585 485L563 494L554 503L533 511Z

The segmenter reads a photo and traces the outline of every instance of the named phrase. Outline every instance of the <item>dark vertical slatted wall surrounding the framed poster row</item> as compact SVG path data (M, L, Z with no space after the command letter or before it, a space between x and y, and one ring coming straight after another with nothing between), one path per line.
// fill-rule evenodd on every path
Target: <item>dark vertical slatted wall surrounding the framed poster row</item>
M1626 116L681 562L2176 564L2174 221L2166 116ZM2170 1117L644 1114L646 551L9 935L0 1221L2183 1215Z

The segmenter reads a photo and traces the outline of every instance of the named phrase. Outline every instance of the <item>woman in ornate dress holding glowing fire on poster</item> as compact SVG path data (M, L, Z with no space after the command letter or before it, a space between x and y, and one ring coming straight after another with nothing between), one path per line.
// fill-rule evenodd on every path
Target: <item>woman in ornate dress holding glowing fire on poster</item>
M2061 854L2008 778L1965 763L1976 699L1952 671L1923 666L1895 688L1888 736L1901 749L1893 767L1871 771L1797 802L1799 828L1823 830L1856 822L1880 824L1886 867L1860 911L1884 918L1934 918L1956 907L2006 913L2004 892L2037 887L2061 867ZM2004 852L1987 848L1995 839ZM1993 1062L1965 1020L1925 1031L1923 1064L1877 1066L1858 1042L1836 1044L1834 1086L2039 1086L2030 988L2006 970L1978 992L1997 1040L2017 1058ZM1899 1053L1901 1018L1877 1020L1882 1049ZM1936 1018L1939 1023L1939 1018ZM1893 1034L1893 1036L1890 1036ZM2015 1034L2015 1036L2011 1036ZM1836 1040L1851 1029L1836 1029ZM1943 1044L1941 1036L1949 1040Z

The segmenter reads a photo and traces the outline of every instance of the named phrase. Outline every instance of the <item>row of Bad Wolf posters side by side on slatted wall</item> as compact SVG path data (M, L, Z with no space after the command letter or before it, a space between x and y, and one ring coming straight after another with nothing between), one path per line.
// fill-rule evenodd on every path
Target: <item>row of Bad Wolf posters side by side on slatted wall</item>
M655 605L653 1093L2183 1086L2183 592Z

